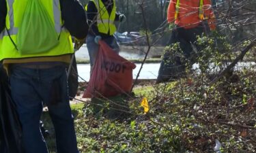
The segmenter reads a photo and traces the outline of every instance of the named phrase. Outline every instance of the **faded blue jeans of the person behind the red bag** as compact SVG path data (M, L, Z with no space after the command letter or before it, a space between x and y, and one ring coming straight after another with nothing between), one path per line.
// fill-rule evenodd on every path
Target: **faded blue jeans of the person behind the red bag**
M87 50L89 52L89 60L91 67L94 65L99 49L99 45L94 42L95 37L96 36L94 35L87 35L86 38L86 45ZM105 41L106 44L108 44L117 54L119 53L119 44L117 44L115 37L108 37L106 39L103 39L103 41Z

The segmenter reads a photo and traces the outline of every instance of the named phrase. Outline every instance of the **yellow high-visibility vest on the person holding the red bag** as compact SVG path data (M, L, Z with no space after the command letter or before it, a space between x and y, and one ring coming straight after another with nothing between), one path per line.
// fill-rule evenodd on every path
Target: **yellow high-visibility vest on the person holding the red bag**
M94 2L94 5L96 5L96 8L98 10L97 15L97 27L98 31L100 33L113 35L116 31L116 27L114 24L115 21L115 0L113 0L113 9L111 11L111 14L106 10L106 7L104 3L102 3L101 0L91 0Z

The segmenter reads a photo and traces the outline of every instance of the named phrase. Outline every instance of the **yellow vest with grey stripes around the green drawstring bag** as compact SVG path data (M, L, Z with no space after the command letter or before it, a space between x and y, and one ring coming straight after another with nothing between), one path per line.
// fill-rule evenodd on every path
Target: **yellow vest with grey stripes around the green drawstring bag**
M17 33L22 23L23 14L27 5L27 0L6 0L8 7L8 14L6 16L6 29L0 33L0 61L10 58L27 58L40 56L58 56L63 54L74 53L72 39L70 33L65 29L61 29L61 10L59 0L39 0L42 2L51 20L55 25L55 30L59 35L59 44L49 50L38 54L21 55L15 47L17 44ZM27 44L29 45L29 44Z

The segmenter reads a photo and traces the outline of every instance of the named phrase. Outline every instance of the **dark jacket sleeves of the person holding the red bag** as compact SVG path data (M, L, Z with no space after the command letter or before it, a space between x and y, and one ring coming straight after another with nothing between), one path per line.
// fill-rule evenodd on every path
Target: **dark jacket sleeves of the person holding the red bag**
M96 0L97 1L97 0ZM109 14L112 12L112 8L113 8L113 1L115 0L111 0L110 5L106 5L106 1L109 0L101 0L105 7L106 10L109 12ZM96 22L96 18L97 18L97 14L98 14L98 10L96 8L96 5L94 4L93 1L89 1L89 3L87 4L87 22L89 24L89 34L90 35L100 35L102 38L105 37L112 37L109 34L104 34L104 33L99 33L98 31L98 27L97 27L97 22ZM115 20L118 21L119 20L119 15L117 12L115 13Z

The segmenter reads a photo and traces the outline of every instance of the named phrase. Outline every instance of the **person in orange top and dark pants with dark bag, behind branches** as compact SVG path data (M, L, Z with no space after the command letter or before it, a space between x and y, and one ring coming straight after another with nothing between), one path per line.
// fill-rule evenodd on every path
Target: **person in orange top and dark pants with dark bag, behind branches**
M184 58L193 63L191 54L197 46L197 36L216 29L215 16L210 0L171 0L167 10L167 21L172 29L169 44L180 44ZM174 23L174 24L173 24ZM177 79L184 74L185 65L179 56L170 60L166 52L158 71L157 83Z

